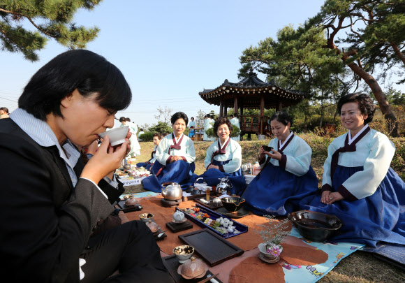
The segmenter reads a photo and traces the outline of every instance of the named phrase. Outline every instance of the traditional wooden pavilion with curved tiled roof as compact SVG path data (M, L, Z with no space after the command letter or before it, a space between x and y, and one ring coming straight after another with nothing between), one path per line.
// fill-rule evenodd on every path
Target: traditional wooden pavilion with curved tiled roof
M226 116L228 108L234 108L235 115L240 117L241 136L248 133L263 135L270 131L267 124L269 117L265 116L265 109L294 106L304 99L304 93L297 90L283 89L274 83L263 82L256 73L249 73L240 82L225 80L215 89L204 89L199 92L201 98L209 104L219 106L219 116ZM244 116L244 109L260 109L259 116Z

